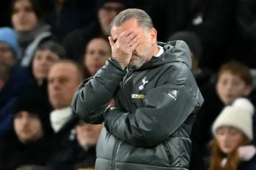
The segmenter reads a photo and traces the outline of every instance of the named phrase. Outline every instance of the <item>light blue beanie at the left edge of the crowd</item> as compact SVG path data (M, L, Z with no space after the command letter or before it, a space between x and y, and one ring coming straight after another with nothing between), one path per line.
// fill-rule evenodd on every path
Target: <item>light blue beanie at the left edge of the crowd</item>
M15 52L15 55L18 55L19 46L18 46L18 35L16 32L9 27L0 28L0 42L7 43L12 47Z

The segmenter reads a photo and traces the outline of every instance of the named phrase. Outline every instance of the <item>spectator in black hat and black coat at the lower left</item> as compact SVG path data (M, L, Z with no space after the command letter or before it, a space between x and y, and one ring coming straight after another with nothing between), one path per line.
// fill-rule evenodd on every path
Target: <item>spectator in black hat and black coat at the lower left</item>
M20 97L14 107L14 131L0 140L0 170L45 165L54 152L50 106L38 94Z

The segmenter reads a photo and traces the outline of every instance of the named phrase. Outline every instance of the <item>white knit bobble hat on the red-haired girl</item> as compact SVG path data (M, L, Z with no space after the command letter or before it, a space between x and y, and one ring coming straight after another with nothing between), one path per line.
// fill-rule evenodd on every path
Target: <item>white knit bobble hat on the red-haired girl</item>
M252 116L254 106L245 98L238 98L231 106L226 106L212 125L212 132L223 126L238 128L249 138L253 139Z

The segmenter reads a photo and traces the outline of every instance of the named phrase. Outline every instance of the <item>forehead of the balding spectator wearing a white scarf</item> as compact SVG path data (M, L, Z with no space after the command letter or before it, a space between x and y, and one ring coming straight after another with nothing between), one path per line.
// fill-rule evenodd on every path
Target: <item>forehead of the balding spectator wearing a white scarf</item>
M78 75L78 69L72 63L56 63L52 66L49 78L52 77L75 77Z

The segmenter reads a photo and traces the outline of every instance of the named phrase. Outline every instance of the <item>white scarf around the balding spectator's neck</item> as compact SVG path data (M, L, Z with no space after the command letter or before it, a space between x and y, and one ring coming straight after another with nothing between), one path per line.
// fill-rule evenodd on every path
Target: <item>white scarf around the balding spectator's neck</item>
M62 127L71 119L73 110L72 108L66 107L64 109L54 110L50 113L50 121L52 129L55 133L59 132Z

